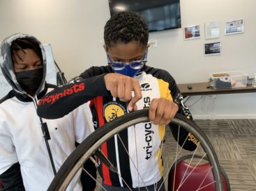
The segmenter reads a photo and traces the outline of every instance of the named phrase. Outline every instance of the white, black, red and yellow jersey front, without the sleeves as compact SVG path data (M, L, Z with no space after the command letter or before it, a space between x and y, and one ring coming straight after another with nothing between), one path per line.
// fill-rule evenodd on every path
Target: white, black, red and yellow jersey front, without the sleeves
M136 103L138 110L149 108L152 99L163 97L172 100L169 84L165 81L145 72L135 78L140 81L142 90L142 99ZM126 103L119 99L113 100L112 97L96 97L91 101L91 110L96 128L129 113ZM102 145L101 150L114 163L128 185L132 185L133 188L152 185L163 175L160 144L164 135L165 126L154 125L151 122L136 124L119 133L130 157L117 138L108 140ZM140 171L140 177L137 169ZM105 165L99 168L99 172L105 184L126 187L118 174L111 172Z

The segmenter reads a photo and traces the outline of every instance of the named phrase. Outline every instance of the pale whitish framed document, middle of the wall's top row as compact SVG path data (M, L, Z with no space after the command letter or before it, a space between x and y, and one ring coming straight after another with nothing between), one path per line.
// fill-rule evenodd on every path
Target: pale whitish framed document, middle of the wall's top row
M220 22L204 23L205 39L220 38Z

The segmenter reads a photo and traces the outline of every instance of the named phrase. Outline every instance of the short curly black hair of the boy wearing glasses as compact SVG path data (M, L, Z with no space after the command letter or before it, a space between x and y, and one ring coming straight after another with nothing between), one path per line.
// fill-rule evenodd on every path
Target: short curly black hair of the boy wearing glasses
M104 40L107 47L133 40L146 46L149 41L149 28L139 14L122 11L110 17L105 24Z

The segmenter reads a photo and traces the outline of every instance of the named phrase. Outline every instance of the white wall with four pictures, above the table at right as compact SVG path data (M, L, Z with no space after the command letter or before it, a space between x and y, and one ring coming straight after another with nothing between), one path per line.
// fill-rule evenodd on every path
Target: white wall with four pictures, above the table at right
M158 39L158 48L149 54L150 62L165 67L179 83L206 81L211 72L234 69L253 74L256 72L255 7L255 0L181 0L182 26L199 24L202 38L183 40L181 28L151 33L151 38ZM244 33L224 35L225 21L232 19L244 19ZM220 22L220 38L205 40L204 22L211 21ZM203 44L218 41L222 43L221 55L204 56ZM159 58L165 63L160 63Z

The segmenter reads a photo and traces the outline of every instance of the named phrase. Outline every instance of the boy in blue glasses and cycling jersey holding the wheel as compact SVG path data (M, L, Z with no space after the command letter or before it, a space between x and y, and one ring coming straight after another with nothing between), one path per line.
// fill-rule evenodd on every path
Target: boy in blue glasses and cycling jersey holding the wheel
M102 149L105 156L118 167L119 174L111 172L108 168L100 163L98 171L103 177L103 187L106 190L128 190L128 188L140 188L140 190L154 190L160 188L163 180L163 169L159 164L162 163L160 158L160 144L163 142L165 124L169 124L171 119L178 110L178 105L173 102L173 98L179 94L176 83L172 76L161 69L154 69L146 66L147 42L149 40L149 31L144 19L136 13L121 12L114 15L105 25L104 31L105 51L107 54L107 67L91 67L83 72L80 77L89 78L98 74L110 73L123 74L130 76L140 83L142 99L137 101L137 109L149 108L149 119L151 122L137 124L136 128L129 127L126 131L119 133L123 144L130 156L127 155L126 149L122 149L121 142L110 139ZM107 75L107 74L106 74ZM123 78L123 77L122 77ZM89 78L91 79L91 78ZM78 83L82 83L80 81ZM77 83L75 83L77 84ZM86 87L86 84L85 84ZM94 91L97 87L90 87ZM55 90L50 96L54 97L65 89ZM116 117L120 117L130 112L126 105L127 99L120 96L123 92L129 92L128 86L116 90L112 97L107 95L91 97L91 112L93 114L93 124L95 128L103 126ZM60 117L70 110L79 106L89 97L84 93L84 97L77 95L69 96L66 99L59 98L57 102L47 103L47 99L42 99L39 106L39 113L45 117ZM119 95L118 98L116 95ZM81 94L82 96L82 94ZM69 100L68 100L69 99ZM82 100L81 100L82 99ZM54 106L60 108L61 103L70 103L69 108L62 107L59 111ZM75 103L74 103L75 102ZM183 108L186 110L186 108ZM190 117L190 113L188 117ZM172 126L174 137L177 137L177 128ZM188 132L181 129L180 142L183 142ZM193 150L195 144L186 142L186 149ZM136 162L135 162L136 161ZM134 165L137 164L137 165ZM140 168L140 176L137 174L137 166ZM164 190L164 188L160 188Z

